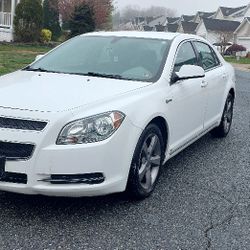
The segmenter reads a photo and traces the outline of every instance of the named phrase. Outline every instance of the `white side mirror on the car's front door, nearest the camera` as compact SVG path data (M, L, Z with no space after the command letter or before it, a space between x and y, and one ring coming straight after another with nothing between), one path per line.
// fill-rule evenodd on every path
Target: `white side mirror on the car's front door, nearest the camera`
M179 80L187 80L194 78L205 77L205 71L202 67L196 65L183 65L179 72L174 72L172 77L172 83Z

